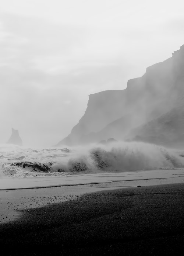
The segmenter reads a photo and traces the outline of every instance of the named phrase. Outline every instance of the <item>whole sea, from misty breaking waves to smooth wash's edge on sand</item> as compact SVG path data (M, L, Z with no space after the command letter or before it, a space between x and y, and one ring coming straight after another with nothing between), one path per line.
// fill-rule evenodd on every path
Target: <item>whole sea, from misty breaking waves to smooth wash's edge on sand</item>
M183 168L183 151L149 143L69 148L0 145L0 189L168 178L182 174Z

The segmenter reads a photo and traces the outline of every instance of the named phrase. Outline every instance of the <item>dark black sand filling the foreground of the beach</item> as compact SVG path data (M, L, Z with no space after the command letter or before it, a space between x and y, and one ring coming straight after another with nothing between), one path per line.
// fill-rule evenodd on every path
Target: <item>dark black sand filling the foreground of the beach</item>
M184 183L98 191L21 212L0 224L2 255L184 255Z

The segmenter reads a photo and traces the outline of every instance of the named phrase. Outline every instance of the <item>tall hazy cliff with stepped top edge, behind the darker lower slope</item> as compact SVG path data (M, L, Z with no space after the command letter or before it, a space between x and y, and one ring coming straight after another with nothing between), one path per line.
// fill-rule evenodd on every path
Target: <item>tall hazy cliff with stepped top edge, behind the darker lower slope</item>
M123 139L130 130L171 111L183 97L184 45L172 55L148 67L142 77L128 80L125 90L90 95L84 116L60 143Z

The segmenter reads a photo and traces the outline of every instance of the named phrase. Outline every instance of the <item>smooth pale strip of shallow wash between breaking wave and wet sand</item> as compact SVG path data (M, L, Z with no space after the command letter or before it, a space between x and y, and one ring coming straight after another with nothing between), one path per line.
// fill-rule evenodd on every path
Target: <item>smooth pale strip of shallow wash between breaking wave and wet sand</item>
M0 179L1 190L17 190L44 187L77 186L82 184L109 183L114 181L134 181L184 178L184 169L150 170L139 172L101 172L63 176L8 177ZM173 183L173 182L171 182Z

